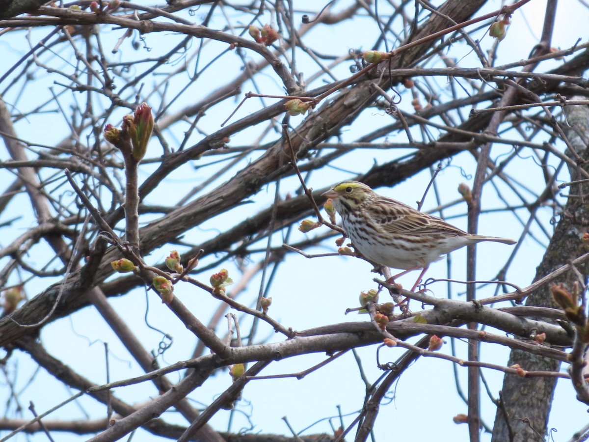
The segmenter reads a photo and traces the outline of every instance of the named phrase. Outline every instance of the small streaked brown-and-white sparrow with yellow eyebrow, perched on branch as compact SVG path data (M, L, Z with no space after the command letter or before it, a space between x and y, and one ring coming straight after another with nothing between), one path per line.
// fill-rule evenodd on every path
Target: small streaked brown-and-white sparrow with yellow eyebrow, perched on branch
M404 269L389 281L423 269L415 291L430 263L446 253L481 241L515 244L494 236L471 235L407 204L380 196L366 184L343 181L323 193L342 217L342 227L356 251L379 265Z

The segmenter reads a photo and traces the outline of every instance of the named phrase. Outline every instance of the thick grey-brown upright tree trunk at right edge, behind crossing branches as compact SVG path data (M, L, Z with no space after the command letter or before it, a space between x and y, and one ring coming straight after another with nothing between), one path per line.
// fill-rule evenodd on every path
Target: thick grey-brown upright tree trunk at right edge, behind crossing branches
M562 124L562 129L571 147L580 157L577 159L577 167L589 170L587 165L589 107L570 106L565 107L564 111L568 124ZM576 157L570 150L567 150L567 154L572 158ZM573 167L569 169L571 181L578 179L577 169ZM573 184L568 190L570 196L564 211L560 214L560 221L554 230L544 259L537 268L534 281L585 253L581 236L587 231L587 220L589 220L589 206L585 201L589 197L589 186L587 183ZM589 273L588 266L580 266L577 270L586 280ZM577 281L575 274L568 272L559 282L571 288L574 281ZM528 296L526 305L558 308L552 301L548 286ZM555 359L543 358L519 350L512 350L509 356L507 365L511 367L514 364L519 364L524 370L558 371L560 367L560 362ZM499 404L495 415L492 442L543 441L556 382L557 379L553 377L521 378L505 375L502 404Z

